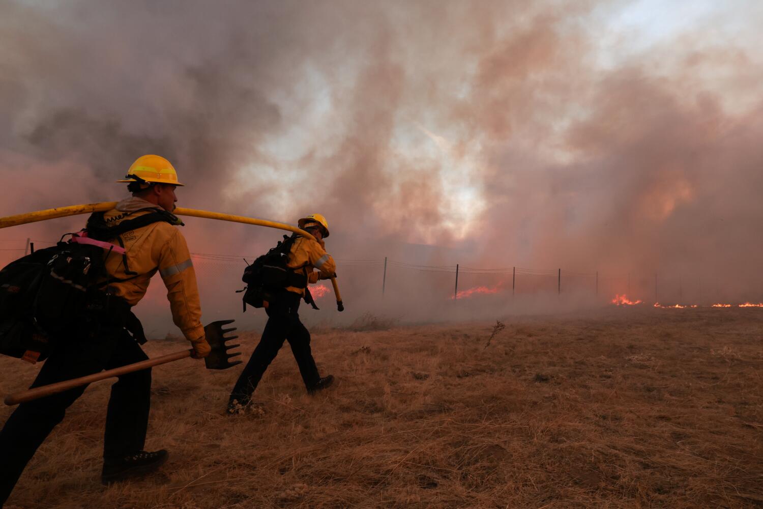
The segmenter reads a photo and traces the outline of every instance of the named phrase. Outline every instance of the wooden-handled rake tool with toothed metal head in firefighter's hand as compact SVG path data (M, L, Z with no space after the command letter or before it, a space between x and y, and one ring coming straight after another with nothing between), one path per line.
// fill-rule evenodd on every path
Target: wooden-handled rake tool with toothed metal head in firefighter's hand
M224 329L223 326L232 324L233 320L218 320L204 327L204 334L207 337L207 343L211 347L211 352L208 356L204 357L204 364L207 369L228 369L237 364L240 364L240 360L230 359L240 356L240 352L230 353L230 350L240 346L240 344L229 345L228 341L235 340L238 336L225 336L225 333L236 330L236 327ZM32 401L38 398L44 398L58 394L59 392L68 391L70 388L79 387L81 385L88 385L92 382L98 382L99 380L110 379L114 376L127 375L127 373L140 371L141 369L150 368L152 366L159 366L160 364L166 364L167 362L174 362L176 360L185 359L190 357L193 350L181 350L175 353L168 353L165 356L156 357L155 359L147 359L134 364L127 364L127 366L121 366L119 368L108 369L107 371L101 371L93 373L92 375L81 376L79 379L66 380L64 382L58 382L50 385L42 385L28 389L27 391L16 392L5 397L5 404L14 405L24 403L26 401Z

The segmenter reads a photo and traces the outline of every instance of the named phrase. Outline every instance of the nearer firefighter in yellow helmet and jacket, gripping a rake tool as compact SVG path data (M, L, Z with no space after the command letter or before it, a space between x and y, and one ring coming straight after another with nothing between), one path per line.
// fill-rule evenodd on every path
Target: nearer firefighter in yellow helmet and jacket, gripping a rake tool
M115 225L154 211L175 209L177 173L167 159L142 156L130 166L127 182L132 197L105 212L102 220ZM169 221L177 217L164 214ZM95 216L95 214L94 214ZM40 369L32 387L113 369L148 359L137 340L145 340L140 321L130 308L146 294L157 271L167 288L172 319L193 346L192 356L210 352L201 325L196 275L185 238L168 221L158 221L127 231L114 243L124 246L124 256L109 253L105 259L110 276L100 302L83 312L79 323L56 338L56 349ZM130 332L128 332L128 330ZM141 342L143 342L141 341ZM166 461L166 450L143 450L150 407L151 370L122 375L111 386L106 411L101 482L121 481L150 472ZM0 431L0 507L10 495L37 447L63 420L66 408L85 386L22 403Z

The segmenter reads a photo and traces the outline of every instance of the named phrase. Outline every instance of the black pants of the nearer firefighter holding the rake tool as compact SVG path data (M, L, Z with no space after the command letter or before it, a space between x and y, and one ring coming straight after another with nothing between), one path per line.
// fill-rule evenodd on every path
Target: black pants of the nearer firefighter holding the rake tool
M85 317L70 333L57 340L32 387L90 375L148 359L115 317ZM85 387L22 403L0 431L0 507L8 499L24 467L66 408ZM151 370L119 377L111 385L104 437L105 459L116 459L143 450L151 395Z

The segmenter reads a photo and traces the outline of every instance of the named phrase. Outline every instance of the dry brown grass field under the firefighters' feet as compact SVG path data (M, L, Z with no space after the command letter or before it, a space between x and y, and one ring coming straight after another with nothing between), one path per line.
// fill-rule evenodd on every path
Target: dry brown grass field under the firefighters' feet
M147 447L169 462L110 488L100 382L8 506L763 507L763 310L501 321L487 347L494 322L318 330L333 388L305 395L285 346L256 392L262 407L233 417L240 369L156 368ZM242 339L248 356L258 337ZM0 370L8 392L35 369L4 358Z

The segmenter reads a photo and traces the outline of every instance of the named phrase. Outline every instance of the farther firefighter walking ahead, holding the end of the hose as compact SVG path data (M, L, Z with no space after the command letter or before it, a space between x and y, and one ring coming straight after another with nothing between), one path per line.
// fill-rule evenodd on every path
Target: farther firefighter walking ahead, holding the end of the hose
M326 253L324 243L324 238L329 236L326 218L321 214L310 214L300 219L298 225L312 234L314 239L298 237L294 241L289 251L287 267L298 274L306 274L307 283L315 283L319 279L330 279L335 276L336 263ZM314 269L317 269L317 272ZM306 286L280 288L269 301L265 310L268 314L268 322L265 330L262 331L262 339L259 340L251 359L241 372L236 385L233 386L228 401L229 414L237 414L250 404L252 393L270 362L275 359L278 350L283 346L284 340L288 340L291 346L291 353L297 361L308 393L314 394L333 383L333 375L321 377L318 373L310 349L310 332L299 319L299 301L306 295L305 300L311 301Z

